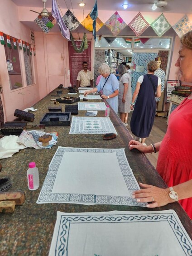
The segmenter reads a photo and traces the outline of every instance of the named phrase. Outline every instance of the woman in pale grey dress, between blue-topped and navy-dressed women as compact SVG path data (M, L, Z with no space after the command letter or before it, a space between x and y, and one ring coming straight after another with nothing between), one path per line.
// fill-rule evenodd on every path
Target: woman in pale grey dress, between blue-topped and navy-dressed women
M131 94L131 77L130 73L126 72L125 66L123 64L120 64L118 66L118 72L119 72L119 83L120 83L120 89L119 89L119 110L120 112L120 119L124 123L125 126L127 126L127 120L128 120L128 113L130 113L130 102L132 99Z

